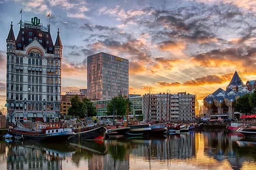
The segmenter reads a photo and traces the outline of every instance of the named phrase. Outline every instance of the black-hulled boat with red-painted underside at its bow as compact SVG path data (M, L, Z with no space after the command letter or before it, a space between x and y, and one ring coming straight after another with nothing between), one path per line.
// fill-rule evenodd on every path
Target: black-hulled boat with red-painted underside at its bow
M75 132L76 136L70 138L70 141L75 142L79 140L103 140L105 138L105 134L107 128L100 124L89 127L81 127L75 128L72 130Z

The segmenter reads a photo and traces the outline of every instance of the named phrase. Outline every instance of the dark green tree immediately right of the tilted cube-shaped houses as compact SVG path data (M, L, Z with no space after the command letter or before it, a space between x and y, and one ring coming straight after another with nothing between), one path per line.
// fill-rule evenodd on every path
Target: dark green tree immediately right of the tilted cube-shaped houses
M250 106L249 98L250 94L239 97L235 103L235 111L244 114L251 113L252 107Z

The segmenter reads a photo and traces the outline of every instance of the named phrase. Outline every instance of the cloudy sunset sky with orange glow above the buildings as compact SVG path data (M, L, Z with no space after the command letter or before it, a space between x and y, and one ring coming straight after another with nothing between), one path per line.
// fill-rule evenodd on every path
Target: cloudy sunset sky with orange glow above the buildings
M235 70L256 79L256 1L0 0L0 105L6 98L6 38L11 21L50 13L63 44L62 93L87 87L87 56L129 60L130 94L196 94L225 89ZM202 104L202 103L199 103Z

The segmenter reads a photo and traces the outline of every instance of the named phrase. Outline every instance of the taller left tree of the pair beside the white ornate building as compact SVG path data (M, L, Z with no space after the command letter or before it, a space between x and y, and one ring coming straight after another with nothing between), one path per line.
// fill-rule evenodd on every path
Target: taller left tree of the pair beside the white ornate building
M78 95L72 97L70 102L71 107L68 109L68 114L75 117L84 118L86 114L86 107L84 102L80 101Z

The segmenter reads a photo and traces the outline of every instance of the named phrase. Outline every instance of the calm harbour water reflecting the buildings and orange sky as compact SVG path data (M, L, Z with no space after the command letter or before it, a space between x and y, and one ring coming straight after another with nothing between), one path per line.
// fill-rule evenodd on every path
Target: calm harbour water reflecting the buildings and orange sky
M0 141L0 169L256 169L256 141L223 129L80 143Z

